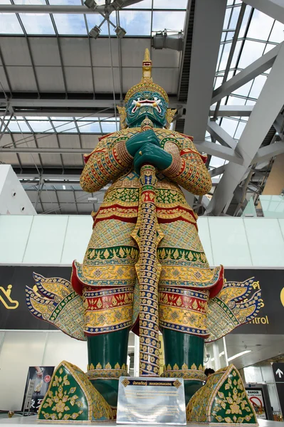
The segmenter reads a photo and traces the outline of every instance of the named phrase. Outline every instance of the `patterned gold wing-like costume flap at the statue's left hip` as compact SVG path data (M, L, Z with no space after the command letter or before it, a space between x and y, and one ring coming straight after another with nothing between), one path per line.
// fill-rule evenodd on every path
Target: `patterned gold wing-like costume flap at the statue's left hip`
M44 278L33 273L36 285L26 286L26 304L31 314L46 320L70 337L85 341L83 300L63 278Z

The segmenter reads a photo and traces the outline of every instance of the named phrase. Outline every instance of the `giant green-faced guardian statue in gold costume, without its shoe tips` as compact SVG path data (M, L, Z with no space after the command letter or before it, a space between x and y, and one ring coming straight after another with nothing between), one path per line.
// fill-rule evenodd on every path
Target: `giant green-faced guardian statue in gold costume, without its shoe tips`
M180 188L199 196L209 192L206 157L191 137L169 130L174 111L152 82L151 68L146 51L142 80L120 107L122 129L102 137L85 156L83 190L111 185L92 214L83 263L73 263L73 289L40 275L36 288L27 288L33 315L87 339L88 380L107 402L106 412L107 404L116 407L117 379L127 375L130 330L140 335L140 375L148 376L159 374L162 331L162 376L184 378L187 403L206 379L204 339L223 337L260 309L259 292L248 300L252 280L224 283L223 267L209 267L197 216ZM191 407L188 413L194 413Z

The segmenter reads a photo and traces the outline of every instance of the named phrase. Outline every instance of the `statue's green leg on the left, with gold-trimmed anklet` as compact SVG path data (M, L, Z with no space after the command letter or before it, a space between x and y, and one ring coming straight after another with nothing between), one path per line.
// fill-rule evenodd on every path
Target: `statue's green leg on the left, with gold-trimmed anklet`
M118 378L126 374L129 332L127 328L87 337L90 381L112 407L117 406Z

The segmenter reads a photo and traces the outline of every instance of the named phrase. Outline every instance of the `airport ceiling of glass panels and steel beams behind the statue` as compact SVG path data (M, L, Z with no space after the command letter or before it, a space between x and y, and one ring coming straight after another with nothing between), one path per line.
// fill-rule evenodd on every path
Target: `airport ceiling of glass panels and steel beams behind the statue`
M0 162L12 164L39 214L98 210L105 189L80 189L83 153L119 129L115 106L140 81L149 48L153 79L177 108L173 128L208 155L213 187L194 209L241 215L284 152L284 6L97 4L0 0ZM95 26L98 38L89 34Z

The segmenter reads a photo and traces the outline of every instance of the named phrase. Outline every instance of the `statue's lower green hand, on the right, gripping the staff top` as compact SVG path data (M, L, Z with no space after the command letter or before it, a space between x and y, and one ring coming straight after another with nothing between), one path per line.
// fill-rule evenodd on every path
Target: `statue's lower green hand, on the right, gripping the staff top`
M134 167L137 174L140 174L140 167L142 164L153 164L154 167L163 171L167 169L171 163L172 154L164 151L161 147L157 147L157 145L149 144L149 142L146 142L134 157Z

